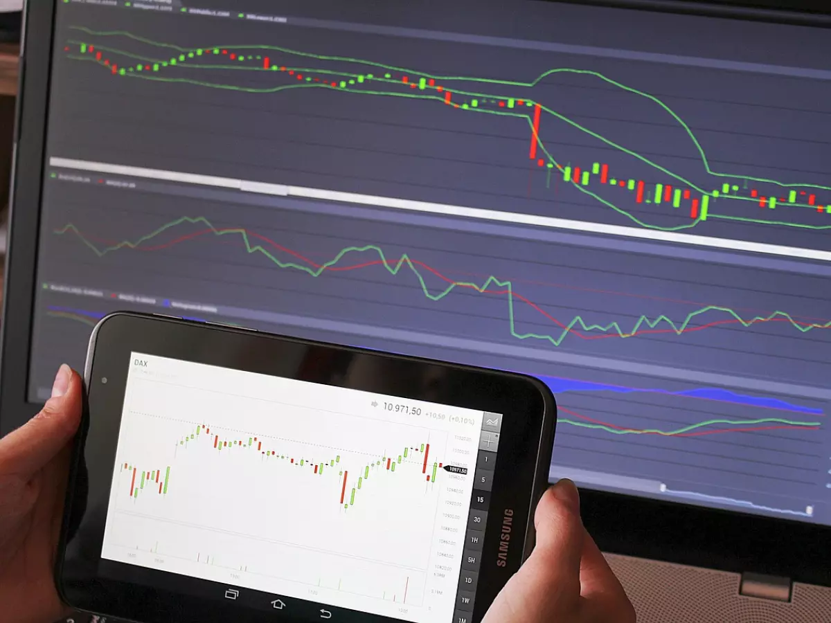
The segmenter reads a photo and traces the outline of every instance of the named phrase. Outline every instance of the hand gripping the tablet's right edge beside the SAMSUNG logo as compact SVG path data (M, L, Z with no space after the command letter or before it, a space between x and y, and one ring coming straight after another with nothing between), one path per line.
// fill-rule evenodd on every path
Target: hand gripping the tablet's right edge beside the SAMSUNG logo
M635 623L635 610L580 520L570 480L549 488L534 516L534 552L482 623Z

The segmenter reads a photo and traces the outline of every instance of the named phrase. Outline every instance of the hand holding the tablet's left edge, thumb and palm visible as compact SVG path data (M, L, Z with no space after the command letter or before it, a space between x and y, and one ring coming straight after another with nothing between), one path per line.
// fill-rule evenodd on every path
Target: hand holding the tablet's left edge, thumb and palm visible
M0 439L0 608L7 623L51 623L66 614L52 570L80 423L81 378L61 365L43 410Z

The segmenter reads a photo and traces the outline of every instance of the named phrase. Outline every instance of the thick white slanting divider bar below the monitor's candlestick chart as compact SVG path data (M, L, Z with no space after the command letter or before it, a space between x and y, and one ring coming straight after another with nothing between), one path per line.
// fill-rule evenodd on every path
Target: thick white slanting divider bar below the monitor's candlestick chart
M567 218L553 218L550 216L538 216L537 214L503 212L500 210L488 210L483 208L468 208L461 205L435 204L429 201L396 199L395 197L378 197L371 194L342 193L337 190L310 189L302 186L265 184L263 182L255 182L244 179L219 178L212 175L179 173L176 171L165 171L162 169L145 169L142 167L91 162L88 160L51 158L49 160L49 164L53 167L60 167L62 169L76 169L81 171L92 171L95 173L127 175L130 177L147 179L162 179L165 181L180 182L184 184L199 184L203 186L237 189L258 194L273 194L278 196L299 197L302 199L337 201L343 204L371 205L377 208L393 208L409 210L412 212L476 218L486 221L499 221L514 224L519 223L522 225L534 225L536 227L569 229L585 233L600 233L607 236L643 238L647 240L656 240L662 243L690 244L699 247L723 248L730 249L732 251L766 253L768 255L780 255L787 258L831 262L831 251L785 247L779 244L752 243L745 240L733 240L730 238L712 238L710 236L698 236L692 233L662 232L655 229L624 227L622 225L607 225L604 223L591 223L588 221L573 221Z

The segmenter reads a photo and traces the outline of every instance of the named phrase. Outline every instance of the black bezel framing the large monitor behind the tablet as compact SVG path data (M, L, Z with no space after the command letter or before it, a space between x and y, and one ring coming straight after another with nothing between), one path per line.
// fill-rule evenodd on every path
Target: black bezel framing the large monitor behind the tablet
M24 9L25 53L21 56L17 98L0 338L0 434L7 433L12 423L19 424L40 406L27 400L27 381L54 19L59 2L27 2ZM653 0L572 3L811 23L817 27L831 25L831 7L825 7L826 14L818 16L819 7L810 0L791 2L786 12L766 8L769 0L745 3L750 2L757 7ZM831 551L831 527L593 490L583 491L583 513L588 530L605 552L723 571L753 571L831 586L831 567L825 559L825 552Z

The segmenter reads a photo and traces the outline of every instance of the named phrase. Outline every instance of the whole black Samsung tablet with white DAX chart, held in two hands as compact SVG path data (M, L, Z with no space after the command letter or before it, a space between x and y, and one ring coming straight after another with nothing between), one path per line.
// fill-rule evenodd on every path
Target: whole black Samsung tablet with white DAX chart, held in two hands
M146 623L479 621L533 543L533 378L119 313L93 331L57 585Z

